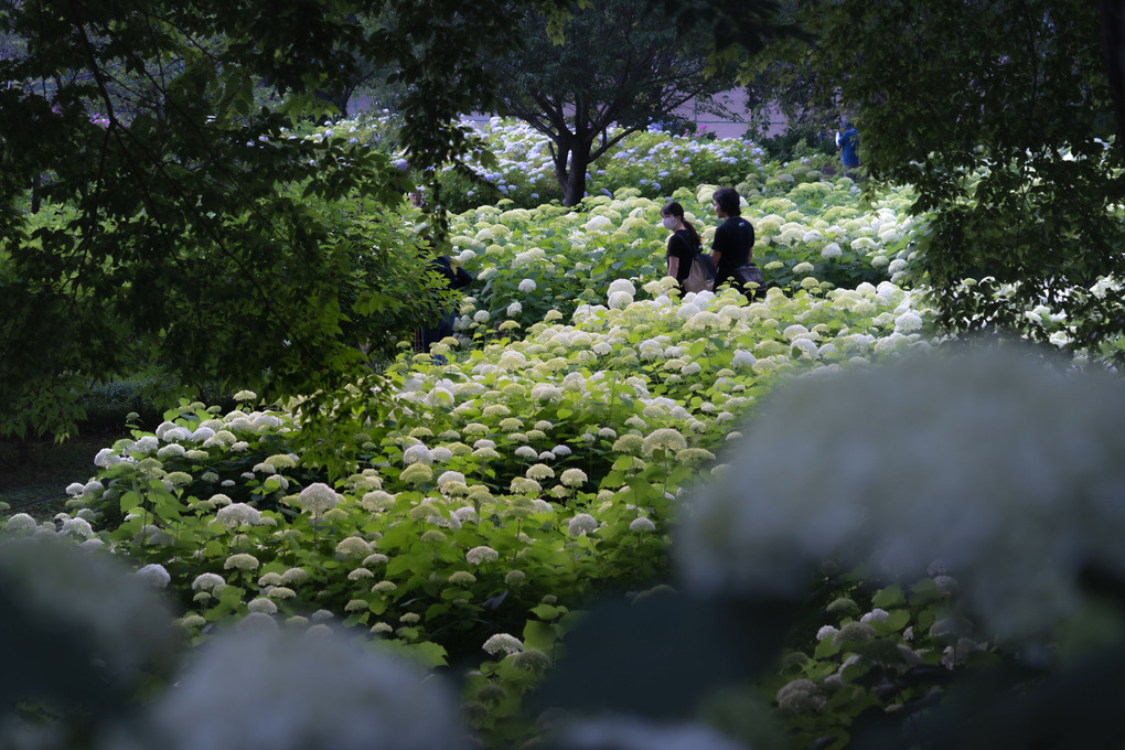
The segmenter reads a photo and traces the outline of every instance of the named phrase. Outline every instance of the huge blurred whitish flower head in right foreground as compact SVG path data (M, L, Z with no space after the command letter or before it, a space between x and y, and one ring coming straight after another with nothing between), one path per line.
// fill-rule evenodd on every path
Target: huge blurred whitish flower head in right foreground
M799 379L693 498L676 557L703 589L796 596L825 559L904 582L943 560L986 627L1042 634L1082 609L1083 566L1125 571L1123 414L1118 380L1011 347Z

